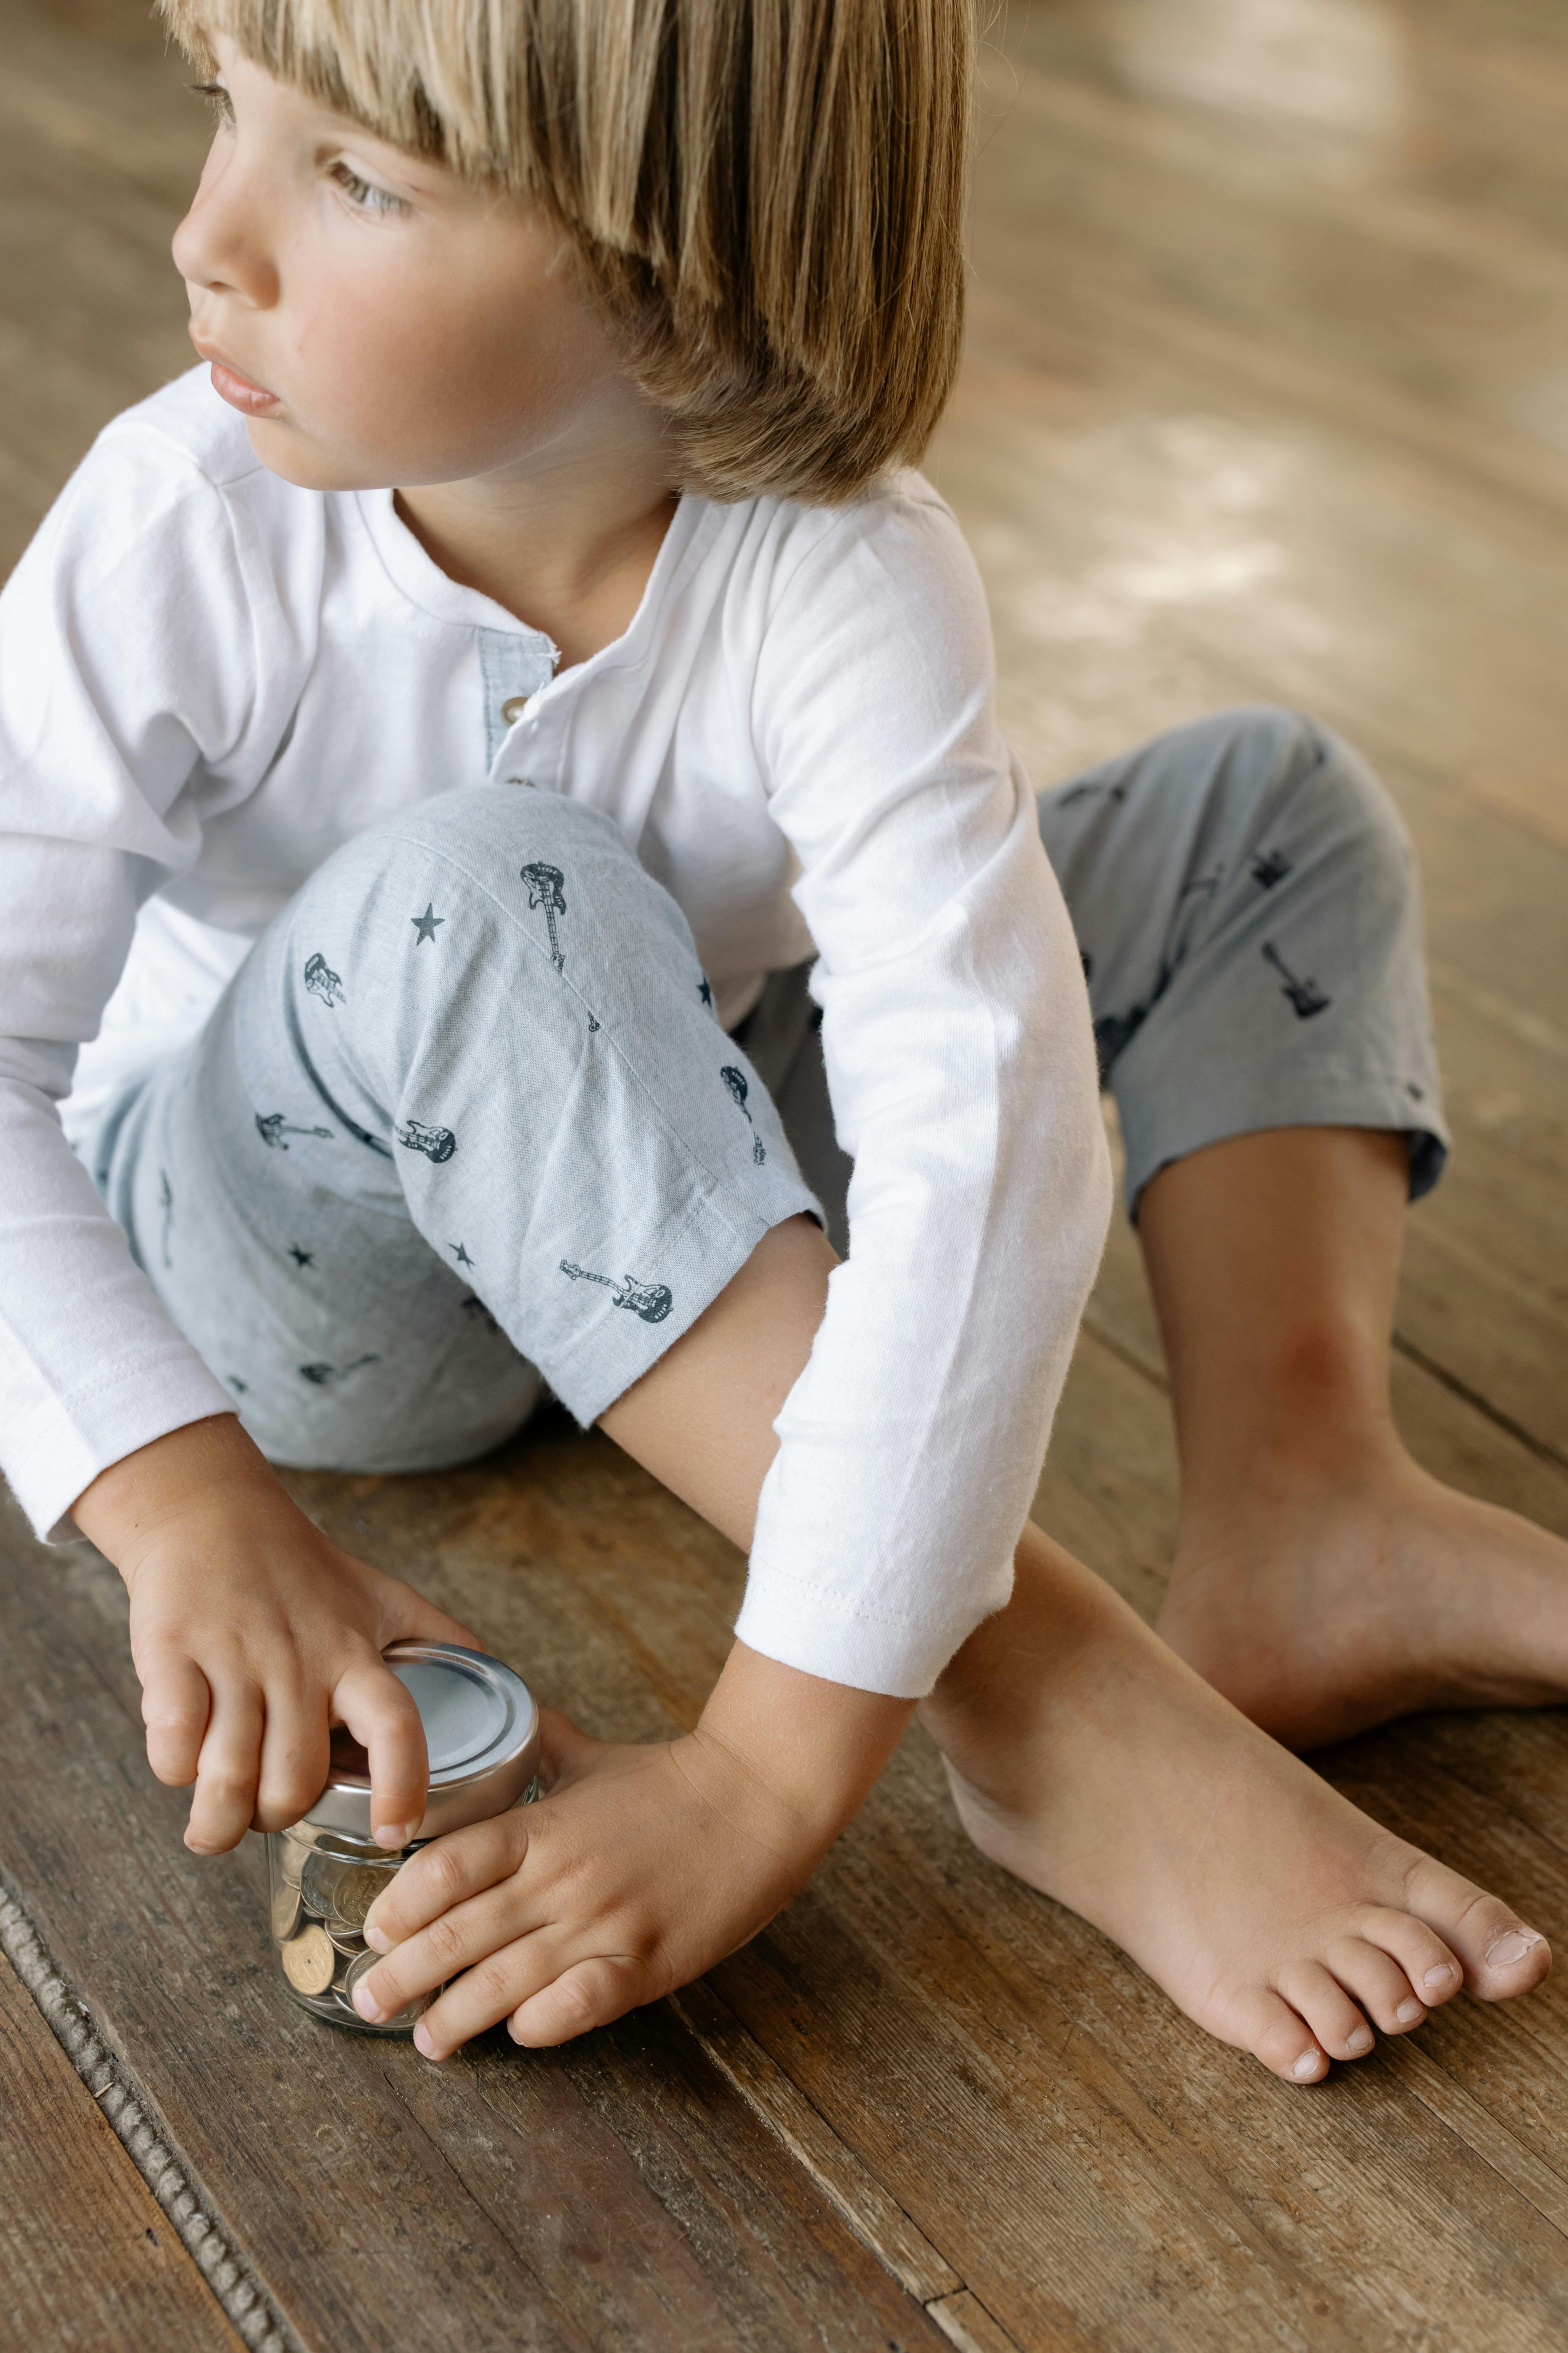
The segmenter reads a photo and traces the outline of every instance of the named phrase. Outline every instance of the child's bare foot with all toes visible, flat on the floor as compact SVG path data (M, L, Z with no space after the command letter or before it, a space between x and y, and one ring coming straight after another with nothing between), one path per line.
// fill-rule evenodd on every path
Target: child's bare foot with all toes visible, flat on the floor
M980 1852L1288 2082L1460 1986L1500 2002L1552 1967L1507 1904L1340 1798L1037 1529L922 1715Z

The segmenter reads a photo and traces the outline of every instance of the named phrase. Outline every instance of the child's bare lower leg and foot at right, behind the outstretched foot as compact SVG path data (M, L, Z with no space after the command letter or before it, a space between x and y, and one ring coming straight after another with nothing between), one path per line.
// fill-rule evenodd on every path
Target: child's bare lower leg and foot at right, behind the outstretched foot
M1403 1141L1345 1127L1213 1144L1140 1202L1182 1457L1159 1631L1293 1748L1568 1692L1568 1546L1394 1428L1403 1205Z

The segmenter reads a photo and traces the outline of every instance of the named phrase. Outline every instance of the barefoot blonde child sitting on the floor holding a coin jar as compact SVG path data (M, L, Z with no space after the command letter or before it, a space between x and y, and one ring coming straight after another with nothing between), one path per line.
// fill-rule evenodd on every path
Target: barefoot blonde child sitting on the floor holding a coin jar
M543 1372L752 1574L696 1734L555 1720L548 1800L383 1899L364 2009L454 1979L430 2057L755 1934L917 1701L985 1852L1288 2080L1528 1991L1507 1906L1020 1537L1105 1219L1081 953L1178 1384L1173 1638L1227 1675L1267 1626L1255 1704L1309 1739L1537 1692L1509 1612L1561 1574L1387 1424L1443 1141L1375 784L1241 715L1037 812L950 518L889 475L957 353L961 9L172 14L223 115L176 240L212 388L110 428L7 591L0 1280L7 1471L127 1579L188 1842L294 1819L329 1720L409 1835L378 1652L463 1628L266 1457L463 1459ZM54 1104L115 984L99 1198ZM1338 1654L1302 1577L1366 1586L1389 1525L1425 1567L1443 1513L1441 1642L1382 1581Z

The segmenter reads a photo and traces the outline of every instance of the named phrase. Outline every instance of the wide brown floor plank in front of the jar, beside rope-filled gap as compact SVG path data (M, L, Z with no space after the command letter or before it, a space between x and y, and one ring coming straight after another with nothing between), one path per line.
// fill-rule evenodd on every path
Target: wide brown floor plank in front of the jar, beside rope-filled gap
M14 1537L0 1607L5 1859L306 2346L407 2341L411 2313L430 2348L940 2341L672 2017L428 2068L294 2012L254 1842L193 1864L146 1774L118 1579Z

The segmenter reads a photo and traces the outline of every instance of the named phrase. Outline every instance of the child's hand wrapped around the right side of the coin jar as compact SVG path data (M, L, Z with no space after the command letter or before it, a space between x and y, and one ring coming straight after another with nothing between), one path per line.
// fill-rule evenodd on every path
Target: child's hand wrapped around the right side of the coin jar
M736 1642L703 1722L592 1741L541 1718L550 1795L433 1840L371 1906L371 2024L442 1981L414 2028L444 2059L498 2019L543 2049L689 1984L755 1937L882 1772L912 1704Z

